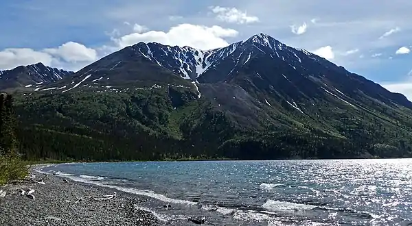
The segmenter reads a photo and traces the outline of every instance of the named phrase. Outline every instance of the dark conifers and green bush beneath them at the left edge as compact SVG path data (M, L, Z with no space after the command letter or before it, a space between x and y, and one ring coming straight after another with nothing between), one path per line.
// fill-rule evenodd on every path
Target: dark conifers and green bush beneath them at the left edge
M16 151L13 98L0 94L0 185L27 175L27 165Z

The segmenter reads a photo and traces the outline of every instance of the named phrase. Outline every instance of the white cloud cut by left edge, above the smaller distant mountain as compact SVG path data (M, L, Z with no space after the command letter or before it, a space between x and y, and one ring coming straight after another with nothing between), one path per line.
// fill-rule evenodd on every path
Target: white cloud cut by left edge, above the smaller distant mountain
M51 65L53 62L51 55L33 49L4 49L0 51L0 69L12 69L16 66L36 64L43 62Z

